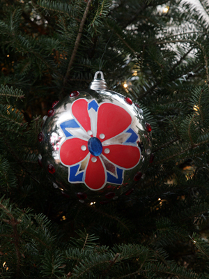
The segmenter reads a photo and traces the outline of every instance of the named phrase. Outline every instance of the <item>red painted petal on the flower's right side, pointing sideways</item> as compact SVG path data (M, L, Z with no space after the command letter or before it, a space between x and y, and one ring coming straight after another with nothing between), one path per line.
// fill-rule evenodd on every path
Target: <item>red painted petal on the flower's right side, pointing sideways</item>
M103 146L102 154L110 160L111 163L118 165L118 167L132 169L132 167L135 167L139 163L141 153L137 146L111 144L108 145L107 148L109 149L109 153L105 153L105 148Z

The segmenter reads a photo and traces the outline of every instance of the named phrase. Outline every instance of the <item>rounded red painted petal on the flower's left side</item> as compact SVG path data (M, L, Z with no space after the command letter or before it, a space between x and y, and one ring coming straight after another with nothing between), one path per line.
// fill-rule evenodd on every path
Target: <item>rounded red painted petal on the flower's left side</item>
M77 137L65 140L60 148L61 163L70 166L84 160L89 152L87 144L86 140L81 140ZM82 150L82 146L86 146L86 150Z

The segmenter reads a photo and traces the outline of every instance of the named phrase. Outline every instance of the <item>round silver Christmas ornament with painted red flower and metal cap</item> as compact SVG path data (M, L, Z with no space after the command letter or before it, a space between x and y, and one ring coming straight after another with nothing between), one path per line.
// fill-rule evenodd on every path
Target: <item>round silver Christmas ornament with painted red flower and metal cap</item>
M99 77L100 76L100 77ZM107 90L102 72L45 116L39 164L56 188L84 200L130 195L151 153L151 126L129 97Z

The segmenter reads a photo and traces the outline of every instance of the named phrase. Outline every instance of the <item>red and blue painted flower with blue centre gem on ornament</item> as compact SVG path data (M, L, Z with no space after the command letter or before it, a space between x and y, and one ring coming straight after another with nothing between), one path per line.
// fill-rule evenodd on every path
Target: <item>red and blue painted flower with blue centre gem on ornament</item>
M59 151L61 163L69 167L69 182L85 183L91 190L100 190L107 182L122 184L124 170L138 165L141 156L130 114L113 103L98 105L85 98L72 103L71 113L74 119L60 124L66 139ZM82 130L79 136L74 133L77 129ZM130 137L117 143L123 133Z

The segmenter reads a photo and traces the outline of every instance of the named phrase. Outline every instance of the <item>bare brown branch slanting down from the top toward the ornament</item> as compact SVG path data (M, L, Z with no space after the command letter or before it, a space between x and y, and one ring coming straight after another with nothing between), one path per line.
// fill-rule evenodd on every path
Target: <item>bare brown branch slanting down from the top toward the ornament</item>
M74 59L75 59L75 56L76 56L76 54L77 54L77 49L78 49L78 47L79 47L80 40L81 40L81 38L82 38L82 32L83 32L83 29L84 29L84 23L85 23L85 21L86 21L86 17L87 17L87 14L88 14L89 7L90 7L90 5L91 5L91 1L92 1L92 0L88 0L88 3L87 3L87 5L86 5L86 9L85 9L85 11L84 11L84 15L83 15L81 24L80 24L80 26L79 26L79 31L78 31L78 34L77 34L77 38L76 38L76 40L75 40L74 49L73 49L73 51L72 51L72 55L71 55L70 61L69 61L69 63L68 63L68 69L67 69L67 72L66 72L65 77L64 77L64 80L63 80L63 87L67 84L68 78L69 78L69 76L70 76L70 70L71 70L71 68L72 68L72 63L73 63L73 61L74 61ZM61 94L62 94L62 93L63 93L63 89L61 90Z

